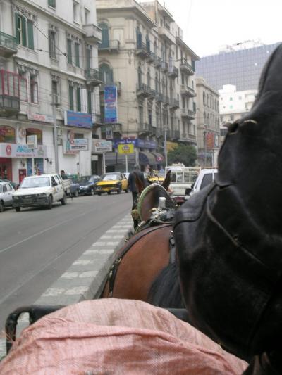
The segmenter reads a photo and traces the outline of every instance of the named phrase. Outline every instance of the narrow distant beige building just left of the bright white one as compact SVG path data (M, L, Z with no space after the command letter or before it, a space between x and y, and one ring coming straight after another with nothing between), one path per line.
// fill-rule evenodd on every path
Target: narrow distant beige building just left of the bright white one
M196 78L197 87L197 145L200 167L217 165L220 141L219 93L202 77Z

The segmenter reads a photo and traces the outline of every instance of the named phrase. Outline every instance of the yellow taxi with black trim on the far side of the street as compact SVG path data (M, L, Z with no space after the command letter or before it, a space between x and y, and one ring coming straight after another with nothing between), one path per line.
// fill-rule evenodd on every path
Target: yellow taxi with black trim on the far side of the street
M128 180L120 172L105 173L102 175L101 181L96 183L95 191L98 196L102 193L111 194L112 191L116 191L118 194L121 191L128 193Z

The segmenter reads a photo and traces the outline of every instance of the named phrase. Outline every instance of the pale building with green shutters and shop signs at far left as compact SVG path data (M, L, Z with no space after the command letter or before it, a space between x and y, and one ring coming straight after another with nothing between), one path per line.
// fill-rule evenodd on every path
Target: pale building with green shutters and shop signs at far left
M54 113L59 170L91 173L100 39L93 0L0 1L1 177L55 171Z

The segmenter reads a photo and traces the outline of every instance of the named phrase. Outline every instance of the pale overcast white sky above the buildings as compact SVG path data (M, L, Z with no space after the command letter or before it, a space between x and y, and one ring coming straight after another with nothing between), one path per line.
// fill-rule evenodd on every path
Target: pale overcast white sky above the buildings
M200 57L218 53L226 44L254 39L264 44L282 41L281 0L159 0L159 3L165 4L183 30L184 42Z

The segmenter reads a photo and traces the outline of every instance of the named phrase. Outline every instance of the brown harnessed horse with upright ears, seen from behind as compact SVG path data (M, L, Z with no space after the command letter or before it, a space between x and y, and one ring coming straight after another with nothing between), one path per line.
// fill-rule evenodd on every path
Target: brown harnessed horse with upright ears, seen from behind
M119 250L116 261L109 272L102 298L109 296L147 301L152 282L164 269L170 260L170 239L172 237L171 222L159 220L148 224L152 210L157 210L159 198L163 197L166 207L175 208L167 193L170 183L170 173L166 175L164 183L152 184L145 188L136 179L137 189L141 193L137 210L140 220L145 224L144 229L137 232Z

